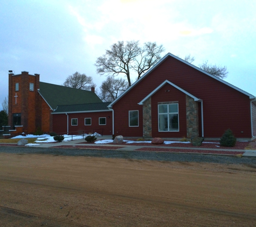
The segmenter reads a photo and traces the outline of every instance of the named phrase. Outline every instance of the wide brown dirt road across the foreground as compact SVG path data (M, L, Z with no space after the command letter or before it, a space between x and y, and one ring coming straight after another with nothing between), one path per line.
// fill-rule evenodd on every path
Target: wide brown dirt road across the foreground
M256 169L0 154L0 226L255 226Z

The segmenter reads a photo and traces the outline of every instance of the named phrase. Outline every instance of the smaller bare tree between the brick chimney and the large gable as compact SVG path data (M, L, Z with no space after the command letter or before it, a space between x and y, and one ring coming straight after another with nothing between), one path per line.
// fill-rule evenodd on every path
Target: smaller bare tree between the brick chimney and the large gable
M129 87L125 79L117 78L113 75L108 76L106 81L103 81L100 86L100 99L105 102L114 101L119 95Z

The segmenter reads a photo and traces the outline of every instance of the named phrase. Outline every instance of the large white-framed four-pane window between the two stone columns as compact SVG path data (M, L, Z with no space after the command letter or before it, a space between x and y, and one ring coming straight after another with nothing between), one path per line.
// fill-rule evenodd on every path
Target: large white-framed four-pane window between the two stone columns
M177 102L158 104L158 131L179 131L179 113Z

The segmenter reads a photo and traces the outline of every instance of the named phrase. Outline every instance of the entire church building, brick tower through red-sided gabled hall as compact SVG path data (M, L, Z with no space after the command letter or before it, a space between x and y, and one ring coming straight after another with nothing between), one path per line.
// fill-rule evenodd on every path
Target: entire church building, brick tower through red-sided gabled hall
M9 125L22 125L25 133L40 127L144 138L219 139L231 129L236 138L252 140L256 97L168 53L112 103L103 103L94 88L9 74Z

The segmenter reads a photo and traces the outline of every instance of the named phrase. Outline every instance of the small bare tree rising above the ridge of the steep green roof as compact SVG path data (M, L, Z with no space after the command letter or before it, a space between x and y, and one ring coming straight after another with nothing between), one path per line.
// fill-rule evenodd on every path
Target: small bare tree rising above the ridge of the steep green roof
M63 85L66 87L82 90L91 90L91 87L96 86L96 84L93 83L93 79L91 76L86 76L85 74L80 74L78 72L75 72L73 75L68 76Z

